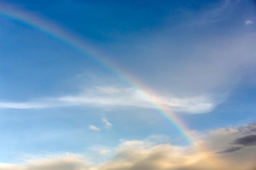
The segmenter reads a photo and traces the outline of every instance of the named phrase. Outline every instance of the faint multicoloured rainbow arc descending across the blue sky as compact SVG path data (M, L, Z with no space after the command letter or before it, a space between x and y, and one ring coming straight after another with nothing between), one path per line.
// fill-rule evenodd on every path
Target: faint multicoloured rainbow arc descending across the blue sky
M93 50L93 47L89 44L86 44L83 40L77 38L73 33L65 31L63 28L56 26L56 24L49 21L43 20L42 18L26 13L25 11L20 11L19 9L13 9L6 4L0 4L0 14L4 15L7 18L12 20L18 20L22 23L25 23L29 26L32 26L47 35L52 36L53 38L64 42L68 46L72 46L74 49L81 52L83 55L86 55L90 60L96 62L103 68L107 69L109 72L117 76L121 81L128 84L129 86L135 87L136 89L144 89L139 91L139 95L145 99L149 104L157 109L159 115L161 115L165 121L168 122L177 132L184 137L189 144L194 146L194 142L189 135L189 128L187 128L177 115L175 115L170 109L166 109L163 106L160 106L155 99L151 97L150 94L154 94L146 86L142 85L141 82L133 78L128 73L125 73L118 66L112 64L110 61L100 55L96 50ZM147 90L145 90L147 89ZM149 93L150 92L150 93Z

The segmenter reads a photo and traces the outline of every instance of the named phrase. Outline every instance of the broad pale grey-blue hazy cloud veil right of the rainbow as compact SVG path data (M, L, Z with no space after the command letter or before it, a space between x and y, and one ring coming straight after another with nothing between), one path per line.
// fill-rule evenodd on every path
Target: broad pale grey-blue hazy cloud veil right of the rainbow
M256 34L245 26L252 20L245 21L242 16L247 9L242 7L243 2L223 0L207 4L200 12L173 12L178 14L166 17L157 31L134 42L115 44L115 49L124 49L116 55L128 58L119 61L120 67L147 86L177 99L208 95L218 96L223 102L227 99L223 94L232 93L240 82L247 81L246 76L255 73ZM249 9L247 15L254 18L254 11Z

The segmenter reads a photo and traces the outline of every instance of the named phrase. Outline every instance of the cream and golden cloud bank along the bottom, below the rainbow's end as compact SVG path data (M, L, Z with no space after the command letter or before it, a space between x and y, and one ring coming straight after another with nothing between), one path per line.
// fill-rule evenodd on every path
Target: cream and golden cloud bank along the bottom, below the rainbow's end
M255 123L253 123L255 124ZM79 154L58 154L57 156L25 159L24 164L1 163L1 170L255 170L255 135L244 136L239 129L255 125L248 124L238 128L211 130L195 139L195 147L174 146L162 141L163 135L155 135L144 140L122 142L116 148L94 146L90 150L106 157L115 153L110 160L98 165ZM253 133L253 132L249 132ZM233 140L235 139L235 140ZM230 147L232 142L236 145ZM248 143L249 141L249 143ZM249 144L249 145L248 145ZM245 147L246 146L246 147ZM216 152L221 148L226 150ZM112 155L112 154L110 154Z

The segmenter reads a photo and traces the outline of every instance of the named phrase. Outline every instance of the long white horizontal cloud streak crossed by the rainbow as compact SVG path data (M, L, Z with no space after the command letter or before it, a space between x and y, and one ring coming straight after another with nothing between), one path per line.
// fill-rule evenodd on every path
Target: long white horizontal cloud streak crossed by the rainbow
M90 106L90 107L124 107L133 106L141 108L166 108L186 113L207 113L211 111L217 102L211 95L199 95L194 97L177 98L173 96L157 95L152 91L134 88L122 88L112 86L96 86L88 88L77 95L51 97L34 102L0 102L0 108L48 108L64 106ZM108 128L111 124L103 118L102 121Z

